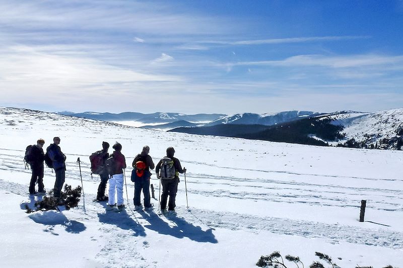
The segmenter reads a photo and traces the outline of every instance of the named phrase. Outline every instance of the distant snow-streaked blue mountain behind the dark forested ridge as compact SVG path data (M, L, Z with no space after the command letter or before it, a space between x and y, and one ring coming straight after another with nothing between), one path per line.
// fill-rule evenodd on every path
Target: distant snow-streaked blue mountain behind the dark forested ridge
M252 114L243 113L224 116L215 121L206 124L206 126L213 126L219 124L259 124L271 126L279 123L290 122L301 118L306 118L312 115L321 115L322 113L309 112L309 111L286 111L280 113L266 113L266 114Z

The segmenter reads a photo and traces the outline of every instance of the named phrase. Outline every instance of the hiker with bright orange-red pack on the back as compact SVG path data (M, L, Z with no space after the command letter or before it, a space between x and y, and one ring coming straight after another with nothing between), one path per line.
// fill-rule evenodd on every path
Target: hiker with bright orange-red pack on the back
M143 151L139 153L136 157L135 160L133 160L133 163L131 166L135 169L141 168L140 171L137 171L138 173L141 172L142 176L136 176L136 181L135 181L135 197L133 198L133 203L135 204L135 209L141 209L142 204L140 201L140 196L141 192L143 191L144 195L144 208L145 209L150 209L152 208L151 202L150 202L150 178L151 178L151 172L150 169L153 170L155 165L153 162L153 159L149 155L150 152L150 147L149 146L144 146ZM140 167L142 165L142 167Z

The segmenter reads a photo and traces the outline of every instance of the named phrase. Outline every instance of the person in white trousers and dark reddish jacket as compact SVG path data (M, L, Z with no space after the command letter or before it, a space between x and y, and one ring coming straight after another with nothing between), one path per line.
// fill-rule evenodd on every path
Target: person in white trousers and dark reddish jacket
M108 209L113 209L117 205L118 210L124 208L123 200L123 169L126 168L126 159L121 153L122 145L116 142L112 148L113 153L105 161L106 168L108 169L109 178L109 200ZM115 194L117 203L115 204Z

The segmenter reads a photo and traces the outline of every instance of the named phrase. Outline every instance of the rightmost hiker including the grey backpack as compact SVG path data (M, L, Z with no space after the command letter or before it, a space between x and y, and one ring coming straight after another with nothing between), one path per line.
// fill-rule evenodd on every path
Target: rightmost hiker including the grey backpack
M186 172L186 168L182 169L179 159L173 157L175 149L173 147L167 148L167 156L162 158L156 168L155 172L157 177L161 180L162 195L161 195L161 211L166 211L167 199L168 212L175 211L175 198L178 191L179 173Z

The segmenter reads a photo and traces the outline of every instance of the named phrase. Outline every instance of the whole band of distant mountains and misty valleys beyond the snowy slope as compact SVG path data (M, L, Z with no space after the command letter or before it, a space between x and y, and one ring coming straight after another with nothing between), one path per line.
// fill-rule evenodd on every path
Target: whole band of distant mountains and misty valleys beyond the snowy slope
M148 129L291 142L323 146L400 149L403 145L403 109L363 113L337 111L235 115L125 112L57 114L110 121L140 122Z

